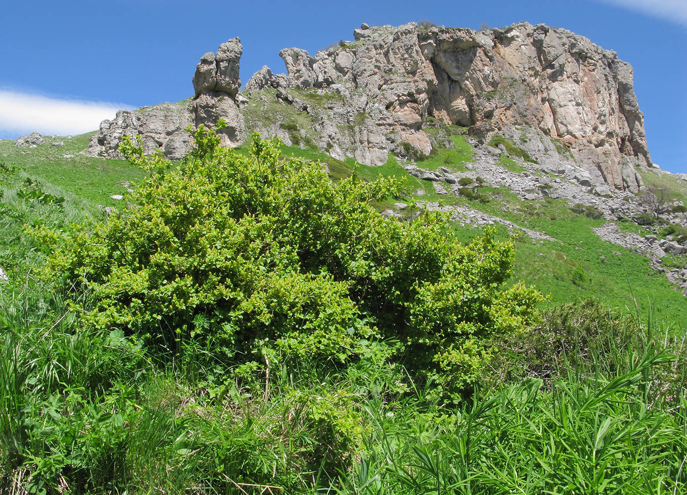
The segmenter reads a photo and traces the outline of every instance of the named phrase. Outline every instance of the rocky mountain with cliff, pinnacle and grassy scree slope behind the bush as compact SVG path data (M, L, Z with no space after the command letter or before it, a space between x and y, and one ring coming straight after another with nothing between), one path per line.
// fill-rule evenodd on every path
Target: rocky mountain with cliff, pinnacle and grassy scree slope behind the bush
M529 229L556 254L522 245L521 275L556 300L604 294L631 309L633 291L642 308L661 294L666 316L682 318L684 181L652 168L627 63L582 36L528 23L484 32L363 26L354 36L314 57L284 49L287 74L263 67L243 91L243 47L231 39L201 58L192 99L120 111L89 153L117 156L120 137L140 133L146 153L178 159L190 146L186 124L225 118L225 146L251 131L278 135L298 155L322 157L333 177L353 173L348 166L363 178L408 177L411 192L424 192L418 201L451 205L458 223ZM411 214L396 202L379 206ZM577 215L587 219L567 221Z

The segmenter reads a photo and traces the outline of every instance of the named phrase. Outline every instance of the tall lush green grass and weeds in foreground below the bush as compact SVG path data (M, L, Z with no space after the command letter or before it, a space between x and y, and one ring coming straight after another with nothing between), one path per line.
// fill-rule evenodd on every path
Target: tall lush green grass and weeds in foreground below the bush
M0 289L3 492L655 494L687 483L684 347L653 323L576 307L569 329L565 311L546 316L543 344L509 336L493 362L515 376L489 370L493 388L446 408L427 399L431 384L374 358L248 369L189 347L153 364L117 331L78 329L64 294L38 312L45 291ZM523 378L532 344L545 352Z

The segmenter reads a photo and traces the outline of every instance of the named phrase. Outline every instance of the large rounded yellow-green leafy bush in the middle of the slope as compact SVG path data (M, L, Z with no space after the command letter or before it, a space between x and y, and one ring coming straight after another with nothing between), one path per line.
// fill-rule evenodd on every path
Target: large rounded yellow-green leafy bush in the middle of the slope
M536 318L538 292L503 287L512 242L489 231L460 245L439 213L381 217L370 202L398 194L393 179L332 184L321 164L280 157L276 140L254 135L248 157L218 143L201 127L173 169L125 140L150 175L131 207L35 231L48 276L93 294L75 307L86 325L270 362L346 362L393 338L409 369L453 395L475 380L487 336Z

